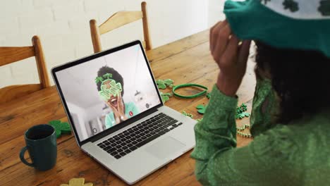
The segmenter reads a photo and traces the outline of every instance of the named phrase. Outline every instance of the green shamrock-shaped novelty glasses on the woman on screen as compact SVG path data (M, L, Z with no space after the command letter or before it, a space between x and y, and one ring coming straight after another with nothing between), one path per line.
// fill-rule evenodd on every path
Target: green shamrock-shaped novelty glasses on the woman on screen
M105 84L106 82L107 84ZM108 101L111 98L111 95L114 95L114 97L121 94L123 91L123 88L121 87L121 83L117 82L115 80L111 80L109 82L108 80L104 80L101 85L101 90L99 91L99 96L104 100Z

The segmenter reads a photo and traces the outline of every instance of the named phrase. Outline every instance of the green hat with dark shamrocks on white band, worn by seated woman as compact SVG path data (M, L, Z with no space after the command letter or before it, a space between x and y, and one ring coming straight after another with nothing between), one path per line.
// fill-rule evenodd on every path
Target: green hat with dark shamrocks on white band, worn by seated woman
M330 0L228 0L224 13L240 39L330 58Z

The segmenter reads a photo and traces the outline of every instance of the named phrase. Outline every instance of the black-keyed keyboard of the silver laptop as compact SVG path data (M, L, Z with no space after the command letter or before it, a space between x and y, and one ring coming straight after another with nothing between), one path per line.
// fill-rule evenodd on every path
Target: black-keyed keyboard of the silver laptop
M166 132L177 128L179 125L182 125L182 123L178 123L178 120L164 113L159 113L135 125L133 128L129 128L114 137L110 137L108 140L104 140L97 144L97 146L116 159L120 159L157 137L164 135Z

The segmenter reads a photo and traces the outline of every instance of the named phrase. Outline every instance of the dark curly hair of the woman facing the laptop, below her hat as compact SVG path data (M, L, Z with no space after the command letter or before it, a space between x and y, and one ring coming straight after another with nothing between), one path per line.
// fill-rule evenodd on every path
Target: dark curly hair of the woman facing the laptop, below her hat
M277 122L330 109L330 58L319 51L277 49L257 42L257 68L268 71L279 95L281 113Z

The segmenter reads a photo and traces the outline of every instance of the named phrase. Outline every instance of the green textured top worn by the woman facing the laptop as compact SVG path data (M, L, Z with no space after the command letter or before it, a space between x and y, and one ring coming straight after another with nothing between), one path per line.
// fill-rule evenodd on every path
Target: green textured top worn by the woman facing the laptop
M271 122L277 102L270 81L258 80L250 118L255 138L236 148L237 98L214 86L204 119L195 125L191 156L197 180L203 185L330 185L330 111L281 125Z

